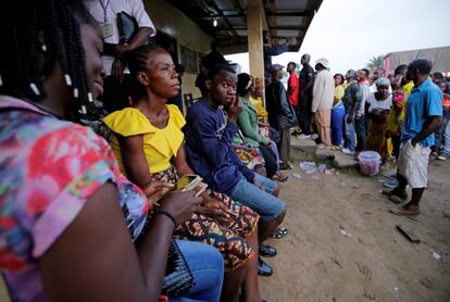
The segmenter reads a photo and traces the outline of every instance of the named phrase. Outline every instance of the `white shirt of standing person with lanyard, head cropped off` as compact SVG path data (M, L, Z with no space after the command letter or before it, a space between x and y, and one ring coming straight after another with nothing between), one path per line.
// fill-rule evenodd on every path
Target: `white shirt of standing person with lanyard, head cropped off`
M107 43L118 43L117 13L120 12L126 12L134 16L139 27L150 27L150 37L157 35L157 28L147 14L142 0L89 0L85 1L85 4L100 26L105 24L105 20L107 24L112 24L112 35L104 38ZM102 60L104 71L107 75L110 75L114 56L103 55Z

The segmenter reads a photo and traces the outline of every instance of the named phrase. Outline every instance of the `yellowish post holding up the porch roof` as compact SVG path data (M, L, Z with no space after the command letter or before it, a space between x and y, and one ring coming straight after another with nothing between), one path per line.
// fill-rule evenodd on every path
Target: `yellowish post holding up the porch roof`
M247 1L247 36L249 45L250 74L259 77L263 83L262 101L264 99L264 54L263 54L263 20L264 8L262 0Z

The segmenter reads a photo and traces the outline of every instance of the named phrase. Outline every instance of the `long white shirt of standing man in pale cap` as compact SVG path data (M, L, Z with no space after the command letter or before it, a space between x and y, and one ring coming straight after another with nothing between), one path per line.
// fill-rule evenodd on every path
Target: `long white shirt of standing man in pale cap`
M313 102L311 112L332 110L335 100L335 79L327 70L317 73L313 86Z

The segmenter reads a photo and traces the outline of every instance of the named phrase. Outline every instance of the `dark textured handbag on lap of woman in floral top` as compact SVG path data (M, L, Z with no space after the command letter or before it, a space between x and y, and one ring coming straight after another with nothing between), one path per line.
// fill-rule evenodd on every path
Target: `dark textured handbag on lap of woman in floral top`
M183 295L196 285L185 256L174 240L168 246L167 267L162 292L167 295Z

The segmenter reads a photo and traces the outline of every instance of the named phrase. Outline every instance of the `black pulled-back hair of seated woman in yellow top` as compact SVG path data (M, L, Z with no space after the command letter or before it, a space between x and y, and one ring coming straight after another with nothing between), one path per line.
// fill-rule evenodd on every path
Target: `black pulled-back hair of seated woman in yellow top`
M149 60L149 54L154 51L166 52L158 43L150 42L135 48L125 55L125 60L133 79L132 89L129 89L129 95L134 102L137 102L138 100L147 96L147 88L138 80L137 74L139 72L147 71L147 62Z

